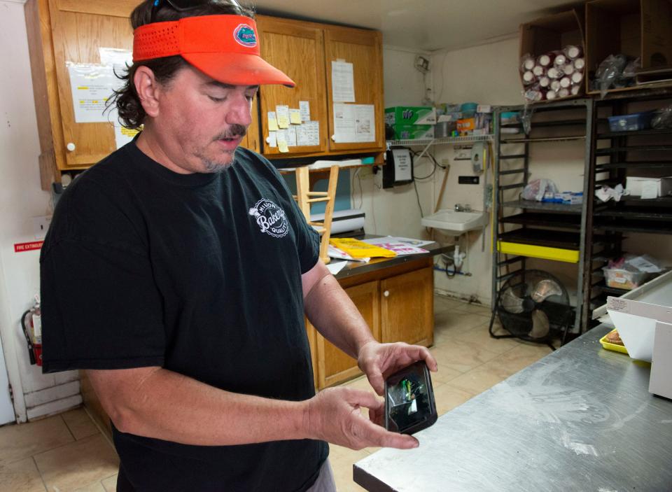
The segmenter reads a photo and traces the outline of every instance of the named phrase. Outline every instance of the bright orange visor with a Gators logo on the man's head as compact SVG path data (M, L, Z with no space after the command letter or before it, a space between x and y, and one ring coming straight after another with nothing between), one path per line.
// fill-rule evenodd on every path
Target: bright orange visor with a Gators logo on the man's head
M207 76L232 85L296 84L260 56L257 24L244 15L197 15L153 22L133 33L133 62L181 55Z

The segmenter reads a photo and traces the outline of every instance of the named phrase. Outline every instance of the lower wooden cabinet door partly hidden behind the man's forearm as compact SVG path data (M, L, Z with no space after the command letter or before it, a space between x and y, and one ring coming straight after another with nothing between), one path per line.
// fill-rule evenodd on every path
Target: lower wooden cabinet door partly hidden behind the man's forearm
M358 286L346 288L352 302L365 319L373 336L380 339L379 297L378 282L362 283ZM325 307L325 309L329 309ZM318 388L332 386L346 379L360 374L357 361L347 356L341 349L324 339L316 332L317 361L318 361Z

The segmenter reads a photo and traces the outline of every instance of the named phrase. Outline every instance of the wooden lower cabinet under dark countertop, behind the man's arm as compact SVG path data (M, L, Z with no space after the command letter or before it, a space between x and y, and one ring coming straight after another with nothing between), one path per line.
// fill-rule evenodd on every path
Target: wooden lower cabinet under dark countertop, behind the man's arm
M356 283L356 277L341 281L380 342L433 344L433 263L428 259L412 266L380 269L363 276L362 283ZM309 321L306 326L316 388L333 386L361 374L355 359L328 342Z

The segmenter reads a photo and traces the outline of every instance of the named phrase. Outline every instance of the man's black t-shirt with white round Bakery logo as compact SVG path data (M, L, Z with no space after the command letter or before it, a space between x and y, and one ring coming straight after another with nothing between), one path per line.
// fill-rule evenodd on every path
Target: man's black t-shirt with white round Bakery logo
M221 173L183 175L129 143L54 213L40 258L43 370L161 366L307 400L301 274L318 243L259 155L239 148ZM143 492L302 491L328 454L314 440L200 447L113 433L120 473Z

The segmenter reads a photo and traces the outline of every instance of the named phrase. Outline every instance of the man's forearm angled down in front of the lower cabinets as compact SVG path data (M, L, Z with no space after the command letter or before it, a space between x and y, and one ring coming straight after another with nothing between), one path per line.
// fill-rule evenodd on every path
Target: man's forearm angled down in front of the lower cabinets
M332 344L357 358L360 348L374 340L357 307L328 269L304 299L310 322Z

